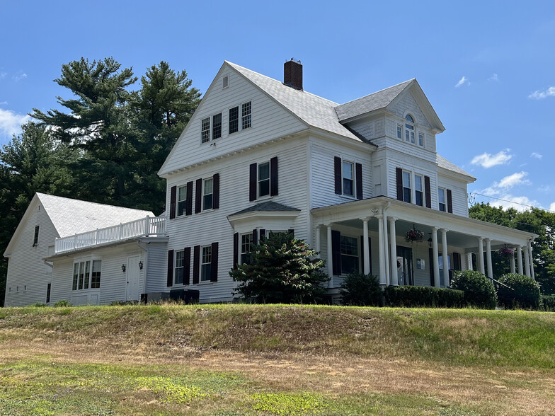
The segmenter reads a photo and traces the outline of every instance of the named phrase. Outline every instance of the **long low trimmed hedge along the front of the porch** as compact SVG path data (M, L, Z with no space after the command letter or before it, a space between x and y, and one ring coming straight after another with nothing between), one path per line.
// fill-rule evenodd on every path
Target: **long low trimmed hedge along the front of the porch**
M427 286L389 286L385 299L388 306L460 308L464 292Z

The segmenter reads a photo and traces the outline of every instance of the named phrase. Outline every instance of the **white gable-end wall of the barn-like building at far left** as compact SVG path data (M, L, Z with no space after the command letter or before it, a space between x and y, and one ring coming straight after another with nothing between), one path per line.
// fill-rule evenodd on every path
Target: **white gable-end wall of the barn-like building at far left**
M58 233L37 197L28 209L31 214L21 224L21 234L8 260L5 306L44 304L47 284L52 277L42 259L48 257L48 249L54 245ZM38 245L33 247L35 226L39 226L39 236Z

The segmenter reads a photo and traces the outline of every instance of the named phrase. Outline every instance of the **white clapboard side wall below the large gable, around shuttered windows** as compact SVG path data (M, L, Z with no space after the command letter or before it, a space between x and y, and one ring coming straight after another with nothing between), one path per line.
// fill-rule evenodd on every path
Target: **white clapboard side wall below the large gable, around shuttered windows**
M279 143L263 146L252 151L237 154L233 158L224 159L221 163L210 166L200 166L179 175L168 178L169 189L173 185L183 185L197 178L210 178L219 173L220 201L219 209L209 212L194 213L168 220L167 230L170 241L168 250L183 250L191 248L191 283L193 282L193 247L195 245L209 245L219 243L218 282L204 282L190 284L188 289L200 290L200 301L229 301L234 282L229 277L229 270L233 265L233 227L227 216L259 202L271 200L289 207L301 209L294 220L292 228L298 238L307 238L308 233L308 139L290 139ZM263 200L249 202L248 178L251 163L263 163L271 157L277 156L279 195ZM193 200L195 192L193 192ZM166 201L169 207L169 199ZM265 228L265 224L259 224ZM166 278L164 278L166 282ZM178 285L183 287L182 285ZM167 289L166 289L167 290Z

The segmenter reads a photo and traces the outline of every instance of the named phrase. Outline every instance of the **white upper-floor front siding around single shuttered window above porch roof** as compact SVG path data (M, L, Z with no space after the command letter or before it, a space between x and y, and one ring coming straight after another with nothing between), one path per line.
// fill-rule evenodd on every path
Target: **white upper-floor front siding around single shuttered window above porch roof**
M362 197L372 197L372 169L370 165L370 146L368 151L353 149L324 139L311 137L311 203L310 207L319 208L356 200L355 197L335 193L334 157L362 165ZM355 185L356 189L356 185Z

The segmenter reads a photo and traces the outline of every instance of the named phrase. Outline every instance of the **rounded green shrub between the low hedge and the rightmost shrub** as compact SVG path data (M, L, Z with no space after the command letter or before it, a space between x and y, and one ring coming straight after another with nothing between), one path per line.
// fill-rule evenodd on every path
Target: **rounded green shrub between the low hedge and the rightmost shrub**
M476 270L454 272L451 289L464 291L464 304L484 309L495 309L497 305L496 288L486 276Z

